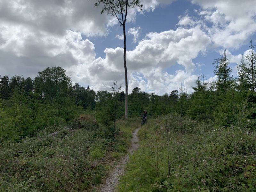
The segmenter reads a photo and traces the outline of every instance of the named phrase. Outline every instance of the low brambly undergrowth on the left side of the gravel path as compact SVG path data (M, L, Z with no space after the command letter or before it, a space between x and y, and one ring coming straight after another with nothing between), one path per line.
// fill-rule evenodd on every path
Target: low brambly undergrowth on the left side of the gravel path
M84 191L106 177L130 146L134 120L105 127L90 115L68 127L48 127L36 137L0 144L0 191ZM52 132L57 132L51 135Z

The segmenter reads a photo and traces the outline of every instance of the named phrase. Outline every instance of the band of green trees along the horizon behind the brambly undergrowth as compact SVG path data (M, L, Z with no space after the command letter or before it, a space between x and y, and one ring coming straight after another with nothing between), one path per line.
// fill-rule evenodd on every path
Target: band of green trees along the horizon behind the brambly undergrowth
M215 82L204 75L196 80L194 92L184 88L162 96L147 93L135 87L128 95L129 116L139 116L143 110L150 116L167 113L189 116L196 121L215 122L228 126L235 121L237 105L248 96L249 108L256 103L256 54L251 51L237 64L237 77L224 49L221 58L214 61ZM178 91L179 90L179 91ZM249 94L247 94L250 92ZM125 93L118 82L110 91L91 90L76 83L61 67L48 67L33 80L21 76L0 76L0 136L17 140L33 135L46 126L68 123L82 113L90 113L106 126L115 126L116 119L124 117ZM255 118L256 113L251 118Z

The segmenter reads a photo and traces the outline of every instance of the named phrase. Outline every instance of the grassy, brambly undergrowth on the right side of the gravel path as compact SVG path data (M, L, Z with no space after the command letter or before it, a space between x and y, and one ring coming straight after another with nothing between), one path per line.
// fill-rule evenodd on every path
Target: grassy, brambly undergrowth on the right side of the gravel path
M171 115L149 121L119 191L255 191L256 133L241 111L228 128Z

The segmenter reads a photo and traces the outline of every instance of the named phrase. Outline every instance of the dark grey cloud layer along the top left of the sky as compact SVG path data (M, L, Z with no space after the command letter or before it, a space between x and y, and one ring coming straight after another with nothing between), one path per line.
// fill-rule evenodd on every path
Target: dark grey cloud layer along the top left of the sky
M26 26L30 31L64 35L67 29L88 36L106 35L106 14L93 1L34 1L2 0L0 21Z

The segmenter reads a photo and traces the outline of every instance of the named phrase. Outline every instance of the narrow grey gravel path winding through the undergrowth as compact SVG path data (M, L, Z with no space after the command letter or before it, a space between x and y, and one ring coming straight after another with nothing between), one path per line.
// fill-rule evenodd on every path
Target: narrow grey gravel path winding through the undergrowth
M114 192L116 190L116 186L118 184L120 176L124 175L125 164L127 164L129 160L128 154L133 154L133 151L136 151L139 148L139 143L138 143L139 139L137 136L138 131L139 131L139 128L132 133L133 135L132 146L129 148L129 152L124 156L120 164L116 165L113 172L107 178L106 184L100 187L100 192Z

